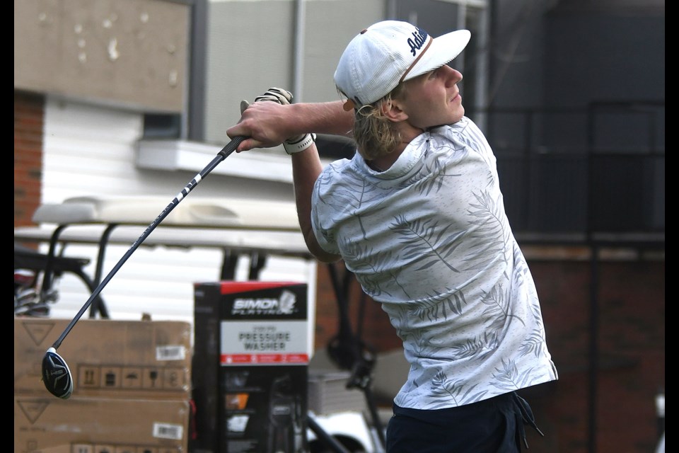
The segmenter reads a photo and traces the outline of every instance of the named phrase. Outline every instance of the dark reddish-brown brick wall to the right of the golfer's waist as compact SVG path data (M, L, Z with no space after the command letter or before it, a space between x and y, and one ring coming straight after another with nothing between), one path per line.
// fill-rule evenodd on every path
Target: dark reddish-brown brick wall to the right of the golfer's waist
M664 260L601 262L596 274L589 262L529 264L559 369L559 381L535 395L533 408L549 434L533 441L541 446L537 451L653 452L654 398L665 388ZM592 380L595 326L598 360ZM591 426L595 450L588 445Z

